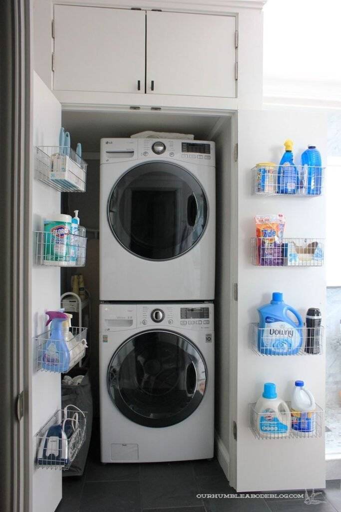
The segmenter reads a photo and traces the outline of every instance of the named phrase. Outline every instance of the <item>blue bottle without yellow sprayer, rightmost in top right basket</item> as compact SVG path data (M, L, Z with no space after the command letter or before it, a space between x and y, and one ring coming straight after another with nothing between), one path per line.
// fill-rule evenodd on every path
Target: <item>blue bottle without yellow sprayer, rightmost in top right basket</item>
M320 196L322 193L322 160L320 151L312 144L302 153L302 175L304 193L309 196Z

